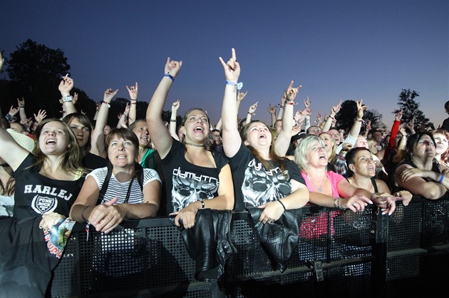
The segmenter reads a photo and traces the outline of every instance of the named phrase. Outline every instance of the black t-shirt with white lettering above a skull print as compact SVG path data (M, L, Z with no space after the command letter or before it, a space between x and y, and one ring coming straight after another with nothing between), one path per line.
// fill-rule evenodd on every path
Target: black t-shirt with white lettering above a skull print
M229 160L222 153L212 155L217 168L193 165L185 159L185 145L173 139L170 152L162 159L167 214L180 211L191 202L218 196L220 171Z

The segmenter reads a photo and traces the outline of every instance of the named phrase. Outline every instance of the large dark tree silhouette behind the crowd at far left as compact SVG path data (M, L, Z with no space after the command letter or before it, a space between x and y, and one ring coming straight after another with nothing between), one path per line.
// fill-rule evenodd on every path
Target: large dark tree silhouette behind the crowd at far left
M16 47L6 60L6 72L9 80L2 80L1 108L9 111L11 106L17 106L16 98L25 98L25 111L29 118L39 109L45 109L47 117L61 117L61 93L58 85L63 76L70 71L70 65L63 51L48 48L43 44L28 39ZM93 117L95 103L79 88L77 111L88 113Z

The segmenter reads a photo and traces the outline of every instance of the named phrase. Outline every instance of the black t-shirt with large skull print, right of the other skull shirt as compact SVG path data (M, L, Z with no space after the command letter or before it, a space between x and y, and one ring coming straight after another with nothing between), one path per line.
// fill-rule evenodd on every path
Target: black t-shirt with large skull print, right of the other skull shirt
M259 206L279 200L291 193L290 180L306 184L298 166L285 159L286 173L271 160L272 169L266 169L243 143L239 151L229 160L234 180L234 210L244 210L245 206ZM285 174L285 175L284 175Z

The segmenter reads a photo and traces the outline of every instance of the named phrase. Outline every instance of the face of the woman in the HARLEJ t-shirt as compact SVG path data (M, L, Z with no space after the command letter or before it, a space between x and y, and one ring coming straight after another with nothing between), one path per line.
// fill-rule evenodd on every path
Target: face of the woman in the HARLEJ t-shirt
M51 121L43 125L39 135L39 149L45 155L63 155L69 145L69 137L66 135L66 126L57 121Z

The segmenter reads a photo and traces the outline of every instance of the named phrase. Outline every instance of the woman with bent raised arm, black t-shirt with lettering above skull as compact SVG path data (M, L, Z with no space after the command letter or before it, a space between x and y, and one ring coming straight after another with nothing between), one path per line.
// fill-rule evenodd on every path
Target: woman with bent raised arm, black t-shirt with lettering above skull
M147 109L150 138L161 158L165 184L165 215L175 215L175 225L195 225L198 210L232 210L234 186L227 158L212 150L209 116L192 108L182 120L184 138L175 140L162 120L162 108L182 66L167 58L165 72ZM160 212L162 213L162 212Z

